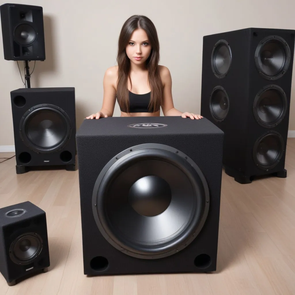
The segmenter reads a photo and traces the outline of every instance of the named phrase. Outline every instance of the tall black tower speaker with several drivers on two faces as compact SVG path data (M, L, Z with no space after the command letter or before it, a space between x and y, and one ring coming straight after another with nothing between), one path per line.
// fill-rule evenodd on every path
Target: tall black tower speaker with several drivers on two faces
M248 28L203 38L201 115L224 132L239 183L286 177L294 30Z

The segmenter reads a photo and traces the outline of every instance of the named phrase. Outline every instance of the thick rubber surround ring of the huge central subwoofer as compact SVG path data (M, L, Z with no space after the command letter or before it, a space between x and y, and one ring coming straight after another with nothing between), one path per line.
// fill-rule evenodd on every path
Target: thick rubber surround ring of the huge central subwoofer
M116 238L112 238L108 234L108 231L110 232L110 230L107 225L106 225L107 228L104 227L104 224L106 224L105 218L101 219L99 216L100 214L98 213L98 210L100 210L101 212L104 211L103 209L100 208L98 201L99 201L99 187L101 182L103 181L103 178L106 172L109 171L112 165L114 165L117 161L124 160L124 158L128 157L130 153L136 153L142 149L165 150L177 155L177 157L180 157L179 159L181 159L182 161L183 160L186 161L187 166L190 166L192 169L194 169L194 172L198 174L204 189L204 195L205 195L204 210L202 212L202 217L201 219L199 219L199 222L194 227L194 230L191 231L190 236L187 237L186 240L182 240L181 243L177 245L173 250L168 250L163 253L142 254L142 253L135 252L133 250L132 251L126 250L126 248L124 248L124 245L122 245L122 243L119 240L117 240ZM122 253L125 253L127 255L130 255L136 258L157 259L157 258L167 257L181 251L182 249L186 248L197 237L197 235L203 228L204 223L206 222L206 219L207 219L207 215L209 212L209 199L210 199L209 187L208 187L206 178L201 172L201 169L198 167L198 165L196 165L196 163L191 158L189 158L186 154L182 153L180 150L177 150L176 148L172 148L171 146L168 146L168 145L145 143L145 144L136 145L126 150L123 150L119 154L115 155L111 160L109 160L109 162L104 166L99 176L97 177L95 185L94 185L93 194L92 194L92 211L93 211L93 216L94 216L96 225L100 233L112 246L114 246L114 248L120 250Z

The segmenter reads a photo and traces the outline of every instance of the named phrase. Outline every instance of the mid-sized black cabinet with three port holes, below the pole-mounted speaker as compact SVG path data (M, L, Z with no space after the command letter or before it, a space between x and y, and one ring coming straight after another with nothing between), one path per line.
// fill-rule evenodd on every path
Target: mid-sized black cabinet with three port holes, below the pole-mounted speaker
M17 174L33 166L75 170L75 88L20 88L10 95Z

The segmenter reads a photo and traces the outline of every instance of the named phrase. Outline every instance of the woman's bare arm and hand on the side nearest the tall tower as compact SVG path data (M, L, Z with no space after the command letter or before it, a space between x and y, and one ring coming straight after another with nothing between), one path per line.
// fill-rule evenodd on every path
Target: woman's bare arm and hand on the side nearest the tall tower
M162 111L164 116L181 116L183 118L190 117L191 119L201 119L201 115L181 112L174 107L172 99L172 78L170 71L165 66L160 66L160 76L163 81L163 106Z

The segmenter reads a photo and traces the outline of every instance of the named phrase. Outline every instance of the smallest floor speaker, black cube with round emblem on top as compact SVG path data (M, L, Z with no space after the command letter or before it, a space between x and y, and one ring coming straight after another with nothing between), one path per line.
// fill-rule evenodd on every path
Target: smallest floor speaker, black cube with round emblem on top
M0 209L0 271L9 286L50 266L45 212L29 201Z

